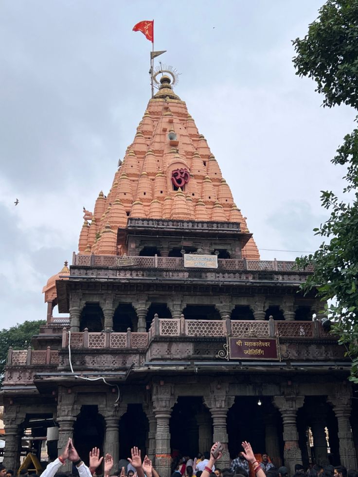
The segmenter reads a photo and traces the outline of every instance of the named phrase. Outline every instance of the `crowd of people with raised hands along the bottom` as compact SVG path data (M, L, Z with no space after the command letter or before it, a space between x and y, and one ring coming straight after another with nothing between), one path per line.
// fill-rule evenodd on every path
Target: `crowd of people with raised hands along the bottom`
M242 442L243 451L231 461L230 467L220 469L215 466L222 457L218 442L212 446L210 452L197 454L195 459L190 457L176 457L172 461L171 477L358 477L355 469L347 470L342 465L318 464L304 469L302 464L295 465L295 472L289 475L287 467L275 467L268 454L261 455L260 462L255 458L249 442ZM61 472L61 467L69 461L72 463L72 472ZM103 472L100 471L103 466ZM98 474L97 474L98 473ZM27 470L19 472L20 477L29 477ZM142 460L138 447L131 449L131 457L121 460L116 466L110 454L100 456L100 449L94 447L90 451L89 466L79 457L72 439L69 438L65 449L53 462L50 462L42 472L41 477L160 477L153 467L151 459L145 456ZM0 477L14 477L11 469L0 465ZM31 474L31 477L37 477Z

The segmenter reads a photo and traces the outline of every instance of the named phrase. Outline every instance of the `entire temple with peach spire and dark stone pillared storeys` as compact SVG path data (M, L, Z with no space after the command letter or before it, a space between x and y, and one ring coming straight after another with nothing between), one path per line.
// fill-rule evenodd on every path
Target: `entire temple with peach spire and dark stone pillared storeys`
M118 462L138 445L161 477L174 452L214 441L221 468L243 440L292 474L357 468L350 362L315 292L299 289L311 270L260 260L228 182L162 76L107 196L84 209L72 265L43 289L46 325L9 350L7 468L25 430L38 458L42 442L53 459L69 436L85 462L92 446Z

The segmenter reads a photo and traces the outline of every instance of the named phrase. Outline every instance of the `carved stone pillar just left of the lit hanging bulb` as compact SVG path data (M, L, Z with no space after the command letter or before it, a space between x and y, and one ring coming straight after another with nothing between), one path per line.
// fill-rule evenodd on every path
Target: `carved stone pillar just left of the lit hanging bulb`
M230 466L228 451L228 433L226 430L226 416L229 408L233 406L234 396L228 396L227 383L213 382L210 385L210 394L204 396L204 404L209 408L213 418L213 440L220 441L224 446L224 455L220 459L221 468Z

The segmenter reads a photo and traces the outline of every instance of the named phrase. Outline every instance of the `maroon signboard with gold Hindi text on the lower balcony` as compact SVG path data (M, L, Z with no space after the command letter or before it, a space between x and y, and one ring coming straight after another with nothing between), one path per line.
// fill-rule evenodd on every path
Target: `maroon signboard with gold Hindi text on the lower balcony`
M229 338L229 359L279 359L276 338Z

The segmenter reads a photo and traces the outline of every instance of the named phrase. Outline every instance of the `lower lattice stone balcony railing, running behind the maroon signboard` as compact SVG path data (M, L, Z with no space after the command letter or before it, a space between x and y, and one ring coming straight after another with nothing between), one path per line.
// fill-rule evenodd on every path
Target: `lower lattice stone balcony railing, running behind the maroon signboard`
M220 365L217 352L227 336L277 338L280 360L342 361L344 350L320 321L192 320L154 317L148 333L62 332L62 349L12 350L8 353L4 386L31 385L37 373L129 369L158 360L211 359ZM265 362L263 362L263 365Z

